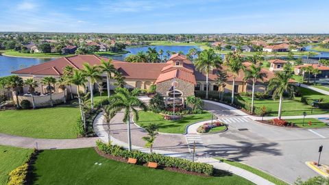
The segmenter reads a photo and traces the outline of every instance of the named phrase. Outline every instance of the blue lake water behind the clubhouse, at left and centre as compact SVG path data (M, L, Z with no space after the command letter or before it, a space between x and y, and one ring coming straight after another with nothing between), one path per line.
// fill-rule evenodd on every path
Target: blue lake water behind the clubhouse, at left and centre
M166 51L183 51L184 54L188 53L188 50L192 48L197 48L197 46L145 46L145 47L127 47L126 50L130 51L130 53L126 53L123 56L111 56L111 58L116 60L124 60L126 56L131 54L136 54L138 51L147 51L148 47L155 47L156 51L160 51L162 49L163 56L166 56ZM163 57L162 56L162 57ZM8 57L8 56L0 56L0 77L10 75L11 71L23 69L28 66L40 64L42 62L47 62L50 60L55 60L56 58L17 58L17 57Z

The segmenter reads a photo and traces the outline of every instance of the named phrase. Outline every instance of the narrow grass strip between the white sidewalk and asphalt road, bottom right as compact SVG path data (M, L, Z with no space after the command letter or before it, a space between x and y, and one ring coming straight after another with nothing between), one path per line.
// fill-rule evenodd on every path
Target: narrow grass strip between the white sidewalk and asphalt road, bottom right
M274 177L273 175L270 175L269 173L266 173L265 171L260 171L258 169L255 169L253 167L248 166L247 164L243 164L241 162L235 162L232 160L226 160L223 158L216 158L217 160L221 160L222 162L228 163L234 167L239 167L241 169L245 169L246 171L249 171L251 173L254 173L260 177L263 177L265 180L268 180L269 182L273 182L273 184L277 185L288 185L287 182L284 182L277 177Z

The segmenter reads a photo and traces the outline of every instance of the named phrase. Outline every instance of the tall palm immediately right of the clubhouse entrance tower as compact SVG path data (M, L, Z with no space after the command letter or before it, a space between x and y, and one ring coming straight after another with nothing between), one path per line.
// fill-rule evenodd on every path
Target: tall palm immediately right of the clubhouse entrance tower
M218 56L213 49L206 49L199 53L197 61L195 62L195 68L198 71L204 71L206 73L206 99L208 99L208 75L210 69L217 69L222 63L221 56Z

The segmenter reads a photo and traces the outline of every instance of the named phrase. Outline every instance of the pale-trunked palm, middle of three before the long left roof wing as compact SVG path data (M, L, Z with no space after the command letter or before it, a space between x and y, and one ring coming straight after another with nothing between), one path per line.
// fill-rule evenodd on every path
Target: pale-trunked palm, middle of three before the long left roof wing
M88 82L90 85L90 101L91 101L91 109L94 109L94 93L93 86L97 79L100 79L99 75L99 66L93 65L90 66L88 63L84 63L84 75L88 78Z

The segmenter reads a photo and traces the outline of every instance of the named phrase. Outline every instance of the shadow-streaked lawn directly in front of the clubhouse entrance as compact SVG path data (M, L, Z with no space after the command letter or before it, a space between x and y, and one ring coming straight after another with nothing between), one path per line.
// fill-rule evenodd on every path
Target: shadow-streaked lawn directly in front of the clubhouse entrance
M145 127L151 123L156 123L159 127L159 132L184 134L187 125L210 119L211 114L209 112L204 112L202 114L191 114L184 116L178 121L169 121L163 119L163 116L160 114L140 111L139 120L136 121L136 124L140 125L141 127Z

